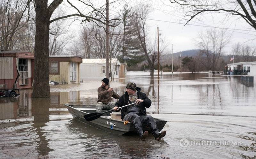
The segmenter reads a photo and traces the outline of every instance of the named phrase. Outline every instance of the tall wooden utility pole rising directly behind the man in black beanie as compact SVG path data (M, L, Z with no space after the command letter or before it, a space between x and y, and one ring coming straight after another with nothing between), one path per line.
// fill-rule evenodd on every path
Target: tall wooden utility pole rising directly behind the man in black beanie
M106 4L106 77L109 79L109 35L108 35L108 0Z

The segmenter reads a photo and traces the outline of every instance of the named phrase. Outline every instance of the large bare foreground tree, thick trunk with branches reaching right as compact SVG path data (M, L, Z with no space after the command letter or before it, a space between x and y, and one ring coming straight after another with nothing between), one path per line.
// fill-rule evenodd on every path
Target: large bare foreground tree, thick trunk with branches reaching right
M50 97L49 87L49 30L50 23L68 17L82 17L82 22L100 22L105 24L105 7L95 8L92 3L78 0L80 5L84 5L87 12L83 13L74 4L67 0L68 4L76 10L74 14L51 19L52 13L63 2L63 0L53 0L50 4L47 1L34 0L36 10L36 38L35 38L35 69L33 97ZM79 5L78 4L78 5ZM89 7L89 8L88 8ZM40 89L39 89L40 88Z

